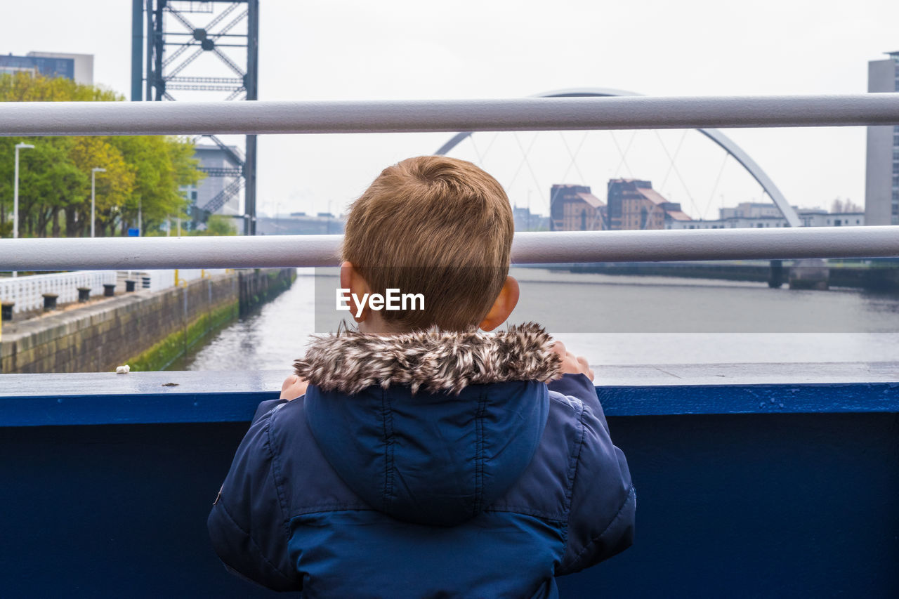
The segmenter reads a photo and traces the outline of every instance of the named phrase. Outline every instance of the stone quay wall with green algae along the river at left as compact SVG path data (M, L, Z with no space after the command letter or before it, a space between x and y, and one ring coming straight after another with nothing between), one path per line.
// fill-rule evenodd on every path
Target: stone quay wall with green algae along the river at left
M210 332L289 288L295 269L240 270L5 323L0 372L162 370Z

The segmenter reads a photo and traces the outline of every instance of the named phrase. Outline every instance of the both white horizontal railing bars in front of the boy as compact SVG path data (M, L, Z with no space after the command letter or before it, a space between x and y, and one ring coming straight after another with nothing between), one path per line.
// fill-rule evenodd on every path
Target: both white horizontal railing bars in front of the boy
M899 94L405 102L0 103L0 135L694 129L899 124ZM337 264L341 237L0 240L0 270ZM899 255L899 228L519 233L518 264Z

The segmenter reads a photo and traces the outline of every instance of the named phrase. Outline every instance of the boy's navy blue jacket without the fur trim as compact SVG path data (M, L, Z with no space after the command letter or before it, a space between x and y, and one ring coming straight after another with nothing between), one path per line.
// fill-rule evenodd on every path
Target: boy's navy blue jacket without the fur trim
M592 381L263 402L209 514L228 568L304 597L555 597L632 542Z

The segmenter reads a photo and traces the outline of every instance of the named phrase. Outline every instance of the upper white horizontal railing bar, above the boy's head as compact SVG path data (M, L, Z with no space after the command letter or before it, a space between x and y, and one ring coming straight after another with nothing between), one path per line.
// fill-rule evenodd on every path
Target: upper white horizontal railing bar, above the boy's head
M380 102L4 102L0 135L386 133L899 124L899 94Z

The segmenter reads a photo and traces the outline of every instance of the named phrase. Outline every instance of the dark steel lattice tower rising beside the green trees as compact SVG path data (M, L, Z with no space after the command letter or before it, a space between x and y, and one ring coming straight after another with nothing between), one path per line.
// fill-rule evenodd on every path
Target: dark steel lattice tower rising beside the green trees
M202 26L195 15L200 15ZM236 49L236 50L235 50ZM245 52L245 67L232 56ZM214 56L209 73L208 59ZM205 67L204 67L205 65ZM174 101L173 92L227 94L225 100L258 100L259 0L132 0L131 100ZM223 76L221 70L229 71ZM189 74L185 74L185 70ZM199 73L199 74L198 74ZM256 229L256 136L247 135L244 156L206 135L233 168L202 168L210 177L236 177L200 210L214 212L245 189L245 235Z

